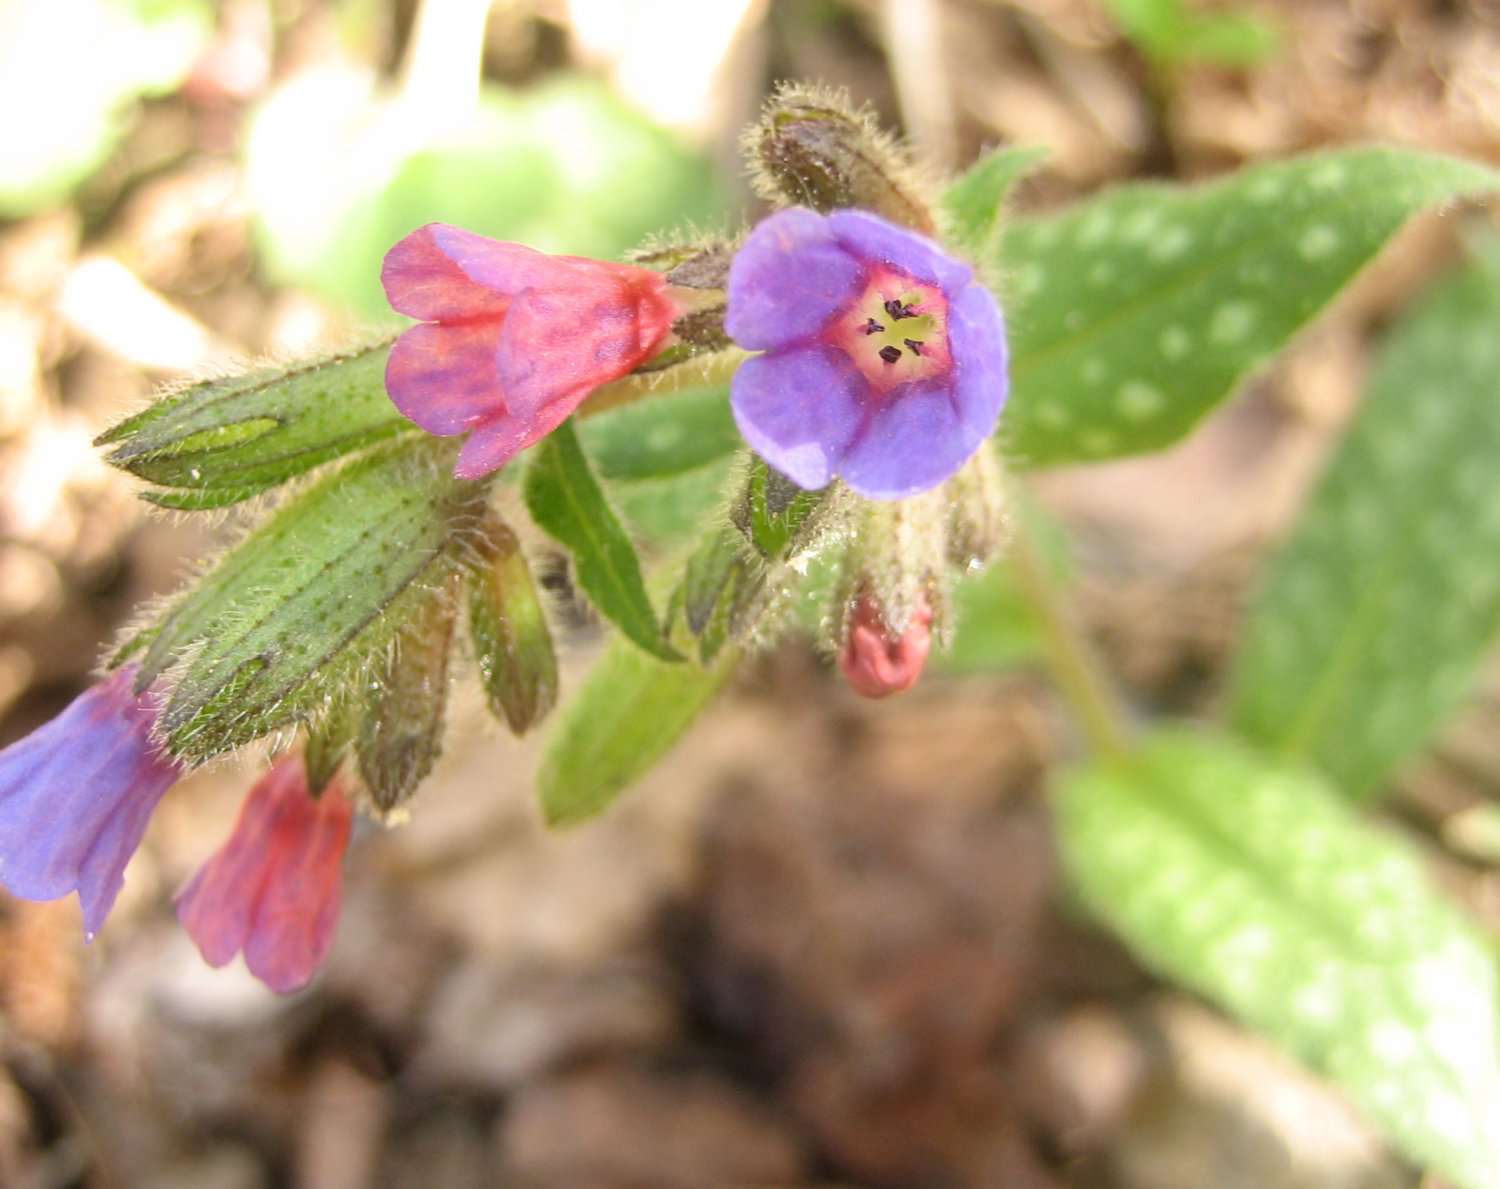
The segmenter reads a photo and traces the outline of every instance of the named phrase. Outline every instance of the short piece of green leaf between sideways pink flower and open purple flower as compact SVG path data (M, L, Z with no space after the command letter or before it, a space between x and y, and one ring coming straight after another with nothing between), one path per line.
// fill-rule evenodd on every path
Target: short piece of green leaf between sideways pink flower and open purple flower
M724 388L696 388L621 405L579 423L579 438L610 481L672 478L741 447Z

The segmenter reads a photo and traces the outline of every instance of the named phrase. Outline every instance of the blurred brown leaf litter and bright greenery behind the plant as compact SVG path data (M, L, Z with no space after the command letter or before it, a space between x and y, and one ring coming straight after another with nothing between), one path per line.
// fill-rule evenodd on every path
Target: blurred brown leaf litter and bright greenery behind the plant
M104 426L387 318L381 255L434 219L598 256L740 228L736 136L783 78L848 87L934 172L1046 147L1020 213L1362 139L1500 163L1486 0L0 0L0 742L224 528L146 517ZM1180 447L1038 477L1140 708L1212 702L1372 331L1454 256L1410 228ZM194 775L92 946L72 898L0 898L0 1186L1418 1185L1070 910L1041 777L1077 744L1014 607L976 606L892 703L804 643L758 660L567 834L534 747L460 694L292 999L176 928L254 760ZM600 631L566 618L576 675ZM1416 831L1500 784L1496 696L1406 778ZM1500 924L1492 870L1434 864Z

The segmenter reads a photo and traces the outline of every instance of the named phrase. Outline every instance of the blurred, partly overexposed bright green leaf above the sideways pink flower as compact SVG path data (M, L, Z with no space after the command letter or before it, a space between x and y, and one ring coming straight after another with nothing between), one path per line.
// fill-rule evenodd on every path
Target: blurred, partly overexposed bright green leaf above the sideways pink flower
M381 259L423 223L609 258L723 213L702 157L578 78L489 88L452 126L386 97L370 73L309 70L258 112L248 184L278 276L370 318L392 316Z

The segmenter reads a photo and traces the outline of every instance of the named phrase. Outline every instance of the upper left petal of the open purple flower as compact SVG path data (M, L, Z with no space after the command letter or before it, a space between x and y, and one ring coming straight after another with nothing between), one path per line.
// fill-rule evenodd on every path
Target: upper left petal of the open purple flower
M792 207L750 232L729 267L730 339L752 351L792 346L855 298L866 270L838 246L830 222Z

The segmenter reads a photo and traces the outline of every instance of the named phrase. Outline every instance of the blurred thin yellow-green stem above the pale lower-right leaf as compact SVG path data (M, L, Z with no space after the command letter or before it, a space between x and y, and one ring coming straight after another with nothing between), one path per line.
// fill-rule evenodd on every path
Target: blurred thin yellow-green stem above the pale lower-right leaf
M1023 516L1014 519L1010 562L1022 594L1041 624L1042 646L1053 679L1078 717L1084 738L1104 756L1124 756L1130 751L1130 735L1119 699L1110 688L1088 637L1072 621Z

